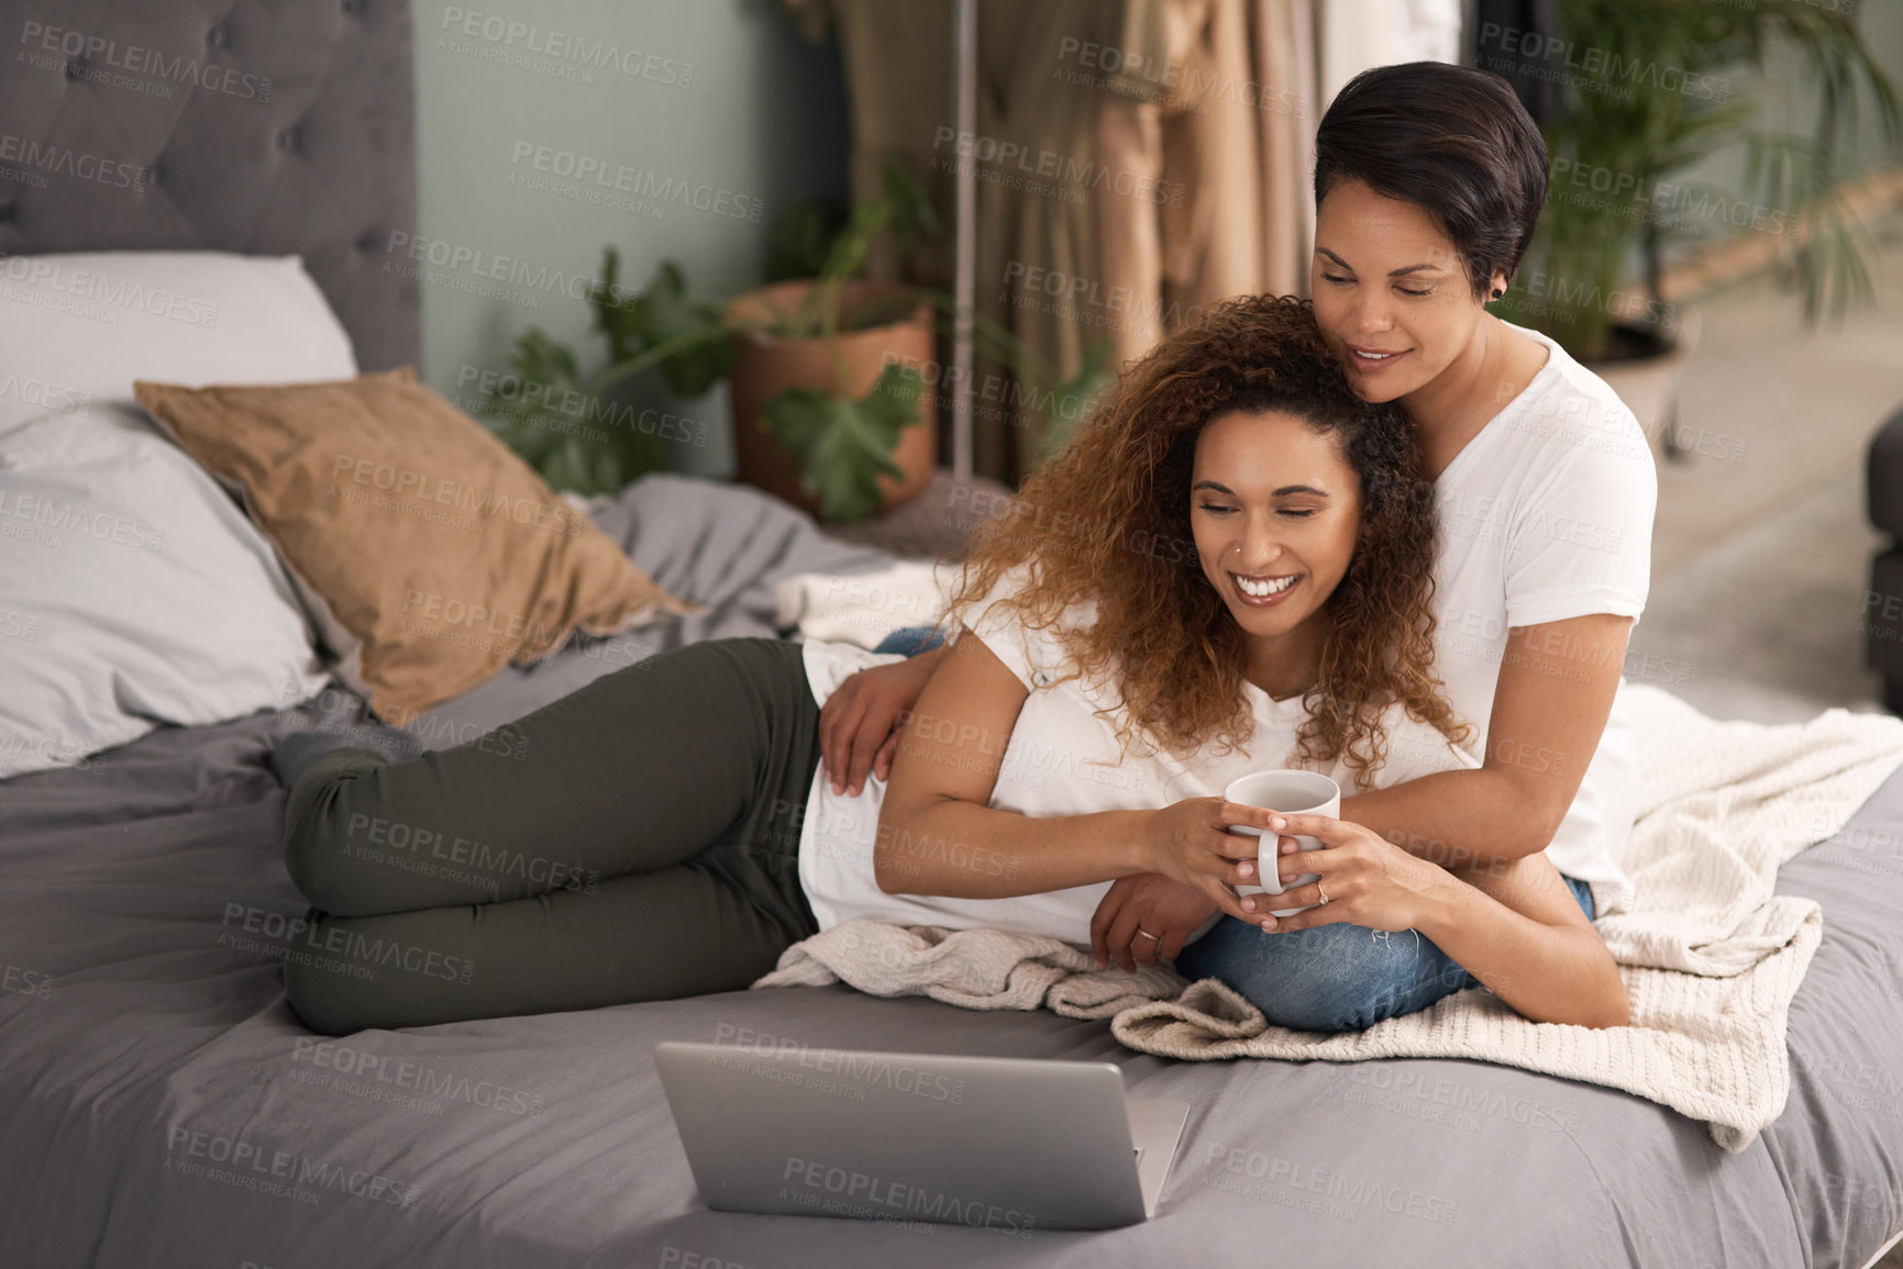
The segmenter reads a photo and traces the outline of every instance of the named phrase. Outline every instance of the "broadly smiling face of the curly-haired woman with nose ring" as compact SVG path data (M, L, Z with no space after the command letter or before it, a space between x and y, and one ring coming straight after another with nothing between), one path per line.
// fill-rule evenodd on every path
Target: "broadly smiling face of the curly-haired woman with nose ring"
M1281 411L1231 411L1197 436L1189 529L1203 576L1250 635L1250 679L1305 687L1323 603L1361 533L1361 479L1332 434ZM1271 685L1275 683L1275 685Z

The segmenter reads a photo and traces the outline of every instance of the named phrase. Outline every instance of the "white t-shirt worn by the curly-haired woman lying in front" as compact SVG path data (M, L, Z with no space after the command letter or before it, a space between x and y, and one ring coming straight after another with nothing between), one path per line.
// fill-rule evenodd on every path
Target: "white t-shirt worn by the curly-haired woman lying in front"
M1022 573L1007 575L993 590L993 597L1016 590L1020 582ZM1090 615L1090 607L1081 605L1066 615L1066 622L1089 620ZM991 790L990 805L999 810L1026 816L1148 810L1186 797L1220 797L1239 776L1292 765L1296 732L1305 717L1300 696L1273 700L1260 687L1245 683L1256 715L1246 748L1222 755L1214 752L1146 755L1132 750L1130 757L1119 757L1117 725L1111 719L1123 717L1121 694L1113 683L1087 685L1079 679L1058 683L1069 660L1056 630L1028 628L1014 613L1001 613L990 605L976 609L971 620L972 634L1030 691ZM847 675L891 660L898 656L879 656L843 643L811 639L805 643L807 679L814 700L822 706ZM1113 710L1111 719L1096 715L1100 706ZM953 734L948 734L950 738ZM1389 713L1387 746L1387 763L1376 774L1376 786L1414 780L1435 771L1479 767L1479 761L1448 744L1441 732L1416 723L1399 708ZM1353 791L1345 763L1324 767L1323 772ZM1109 890L1108 881L991 900L881 892L873 879L873 845L883 797L885 784L875 778L866 780L858 797L835 795L824 767L813 778L799 835L799 881L822 930L854 917L870 917L893 925L988 927L1049 934L1089 946L1090 917ZM969 843L931 839L902 843L900 856L906 852L932 860L948 858L991 875L1001 875L1005 869L1001 856L988 856Z

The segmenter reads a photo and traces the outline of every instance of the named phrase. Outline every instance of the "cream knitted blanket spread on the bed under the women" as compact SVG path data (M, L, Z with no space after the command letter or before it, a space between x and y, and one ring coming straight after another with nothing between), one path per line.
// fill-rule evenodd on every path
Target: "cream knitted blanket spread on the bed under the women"
M1214 978L1096 970L1089 951L1001 930L849 921L788 947L755 987L845 980L965 1008L1109 1018L1167 1058L1477 1058L1606 1084L1709 1124L1745 1149L1783 1113L1785 1018L1823 938L1815 902L1774 896L1777 868L1834 835L1903 763L1903 721L1829 710L1810 723L1720 723L1654 687L1631 693L1644 790L1625 850L1629 911L1597 921L1631 1025L1520 1018L1475 987L1366 1031L1269 1025Z

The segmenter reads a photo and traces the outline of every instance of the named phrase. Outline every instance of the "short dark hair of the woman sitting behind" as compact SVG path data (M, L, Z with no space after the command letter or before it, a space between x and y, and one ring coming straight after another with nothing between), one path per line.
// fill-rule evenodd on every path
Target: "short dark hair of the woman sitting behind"
M1467 261L1475 295L1520 266L1545 205L1547 148L1488 70L1408 61L1363 70L1315 133L1315 207L1336 185L1425 207Z

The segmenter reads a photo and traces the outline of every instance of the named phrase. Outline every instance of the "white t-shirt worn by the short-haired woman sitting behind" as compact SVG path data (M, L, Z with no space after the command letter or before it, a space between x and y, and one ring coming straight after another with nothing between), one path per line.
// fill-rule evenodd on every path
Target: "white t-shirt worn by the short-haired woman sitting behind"
M1652 582L1652 447L1606 382L1540 331L1547 348L1526 390L1454 455L1437 481L1441 550L1435 664L1484 755L1507 630L1593 613L1638 618ZM1600 913L1631 904L1619 869L1638 771L1621 693L1566 820L1545 854L1593 885ZM1515 752L1524 763L1579 755Z

